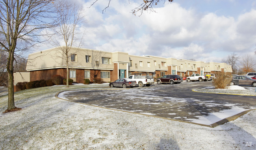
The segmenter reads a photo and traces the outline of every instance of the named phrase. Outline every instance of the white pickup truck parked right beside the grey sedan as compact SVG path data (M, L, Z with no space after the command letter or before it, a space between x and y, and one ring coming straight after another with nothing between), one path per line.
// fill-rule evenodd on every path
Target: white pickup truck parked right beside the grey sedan
M149 87L151 84L155 83L152 75L135 74L135 75L129 76L128 79L136 81L136 83L137 83L137 85L139 85L139 87L143 87L144 85Z

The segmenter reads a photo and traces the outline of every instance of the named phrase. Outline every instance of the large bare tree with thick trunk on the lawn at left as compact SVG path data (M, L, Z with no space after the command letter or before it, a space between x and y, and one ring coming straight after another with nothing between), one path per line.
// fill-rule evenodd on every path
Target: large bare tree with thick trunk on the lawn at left
M14 104L13 62L15 55L21 55L40 40L40 31L48 28L45 22L48 6L52 0L1 0L0 1L0 45L7 52L8 107L7 111L17 110ZM50 18L50 17L49 17ZM48 21L48 20L47 20ZM6 43L5 43L6 42Z

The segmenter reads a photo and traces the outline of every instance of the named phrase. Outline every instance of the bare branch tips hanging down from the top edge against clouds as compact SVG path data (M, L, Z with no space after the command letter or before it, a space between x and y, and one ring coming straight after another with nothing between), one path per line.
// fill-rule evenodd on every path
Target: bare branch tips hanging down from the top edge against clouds
M98 1L98 0L95 0L95 1L93 2L93 4L95 4L97 1ZM106 6L106 7L102 10L102 13L104 13L104 11L106 11L106 9L109 7L110 1L111 1L111 0L109 0L109 2L108 2L108 6ZM128 1L129 1L129 0L128 0ZM165 1L166 1L166 0L143 0L143 3L142 3L140 6L138 6L138 7L134 8L134 9L132 9L132 14L136 15L137 12L140 12L140 15L139 15L139 16L141 16L142 13L143 13L143 11L153 11L153 12L156 12L156 11L154 10L154 7L156 7L156 6L157 6L159 3L161 3L161 2L165 3ZM167 1L170 2L170 3L173 2L173 0L167 0ZM93 4L91 4L91 6L93 6ZM91 7L91 6L90 6L90 7Z

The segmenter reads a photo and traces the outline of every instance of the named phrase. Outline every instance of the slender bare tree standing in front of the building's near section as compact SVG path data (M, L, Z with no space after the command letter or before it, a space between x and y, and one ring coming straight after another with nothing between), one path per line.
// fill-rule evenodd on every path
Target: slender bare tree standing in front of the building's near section
M57 11L57 28L56 36L54 36L54 45L58 46L60 57L66 62L67 69L67 87L69 87L69 59L74 60L76 53L82 46L82 40L85 35L85 30L78 30L83 24L82 6L70 0L59 0L55 2ZM64 46L61 44L64 43ZM76 48L74 48L76 47ZM70 53L70 50L72 54ZM58 56L58 55L57 55ZM71 60L71 61L72 61Z

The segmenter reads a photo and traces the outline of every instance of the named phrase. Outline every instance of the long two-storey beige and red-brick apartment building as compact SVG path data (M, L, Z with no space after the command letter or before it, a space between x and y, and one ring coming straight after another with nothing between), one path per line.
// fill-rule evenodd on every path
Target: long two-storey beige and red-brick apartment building
M53 75L66 78L65 59L61 53L58 48L52 48L30 54L26 66L26 70L30 72L30 81L49 80ZM154 74L155 77L165 74L185 76L193 73L232 73L231 65L226 63L134 56L126 52L104 52L84 48L80 48L79 51L72 48L70 55L69 77L78 83L83 83L85 78L90 81L102 78L103 81L109 82L118 78L128 78L133 73L146 72Z

